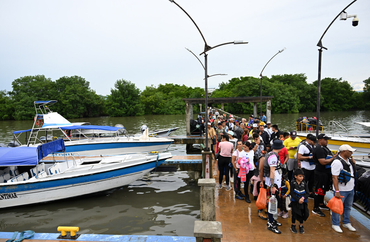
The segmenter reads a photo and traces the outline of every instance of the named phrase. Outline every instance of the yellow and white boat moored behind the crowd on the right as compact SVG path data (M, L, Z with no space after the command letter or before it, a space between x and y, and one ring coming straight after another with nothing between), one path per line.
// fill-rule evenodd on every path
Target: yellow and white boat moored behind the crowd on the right
M362 123L361 123L362 124ZM307 130L305 132L297 130L297 137L300 139L306 139L307 134L312 133L316 135L316 127L313 130ZM338 131L340 129L340 131ZM351 134L349 130L346 129L337 121L330 121L327 130L320 131L320 133L325 133L329 139L327 147L330 150L339 150L342 144L348 144L354 149L357 149L355 154L369 154L370 153L370 138L368 134Z

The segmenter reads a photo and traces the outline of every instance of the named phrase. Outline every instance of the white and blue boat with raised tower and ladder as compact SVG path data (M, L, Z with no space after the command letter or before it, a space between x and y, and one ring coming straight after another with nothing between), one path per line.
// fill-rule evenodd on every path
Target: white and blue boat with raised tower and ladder
M144 132L141 136L128 136L123 126L84 125L85 123L74 125L57 112L50 111L49 107L56 102L56 100L35 101L36 116L32 129L14 131L14 141L21 144L19 141L20 134L26 133L27 142L23 146L37 147L41 143L47 143L58 137L63 137L67 155L73 155L74 152L78 152L82 156L150 151L162 152L174 141L164 137L149 136L148 132ZM86 136L81 130L92 130L92 137ZM113 132L115 135L110 137L100 136L101 130ZM27 136L28 132L29 135ZM79 135L78 137L72 137L72 133L78 133ZM60 153L60 155L63 154Z

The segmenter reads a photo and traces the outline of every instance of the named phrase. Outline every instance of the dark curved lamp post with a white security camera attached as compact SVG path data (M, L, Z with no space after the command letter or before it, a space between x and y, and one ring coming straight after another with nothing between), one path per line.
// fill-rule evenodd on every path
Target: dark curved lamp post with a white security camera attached
M337 17L340 16L339 20L347 20L347 18L353 17L352 20L352 25L357 26L359 24L359 19L357 18L356 14L352 15L347 15L347 13L344 11L346 10L349 6L351 6L355 1L351 2L347 7L345 7L340 13L333 19L332 23L329 24L329 26L326 28L325 32L321 36L319 42L317 43L317 46L320 47L319 51L319 72L318 72L318 77L317 77L317 104L316 104L316 137L319 136L319 121L320 121L320 89L321 89L321 52L322 49L327 50L327 48L323 47L321 40L326 34L326 31L329 29L330 26L334 23Z

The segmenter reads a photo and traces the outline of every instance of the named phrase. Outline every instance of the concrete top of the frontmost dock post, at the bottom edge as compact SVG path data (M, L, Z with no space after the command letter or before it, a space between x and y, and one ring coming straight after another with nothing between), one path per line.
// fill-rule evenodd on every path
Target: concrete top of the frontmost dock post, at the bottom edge
M217 221L194 221L194 237L196 242L221 242L222 226Z

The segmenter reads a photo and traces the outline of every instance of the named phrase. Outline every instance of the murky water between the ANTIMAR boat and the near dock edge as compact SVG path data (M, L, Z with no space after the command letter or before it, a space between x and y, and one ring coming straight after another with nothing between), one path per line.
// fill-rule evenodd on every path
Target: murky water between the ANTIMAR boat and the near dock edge
M0 231L55 233L78 226L88 234L192 236L199 219L194 174L148 174L110 195L77 198L1 211Z

